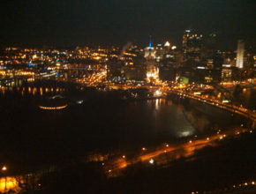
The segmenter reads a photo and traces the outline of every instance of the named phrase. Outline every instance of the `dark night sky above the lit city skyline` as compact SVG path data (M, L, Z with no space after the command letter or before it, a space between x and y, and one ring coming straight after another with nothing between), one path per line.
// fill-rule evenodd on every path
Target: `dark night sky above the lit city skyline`
M221 49L255 44L255 0L1 0L2 46L180 45L184 29L217 32Z

